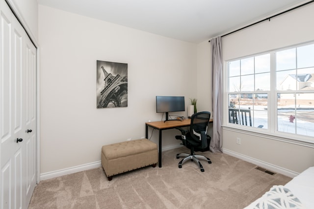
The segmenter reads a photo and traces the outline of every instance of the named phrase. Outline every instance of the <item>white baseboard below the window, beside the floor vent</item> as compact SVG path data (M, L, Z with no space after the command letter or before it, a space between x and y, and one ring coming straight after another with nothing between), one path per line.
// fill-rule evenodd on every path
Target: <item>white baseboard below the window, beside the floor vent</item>
M223 151L223 153L225 153L227 155L231 155L231 156L233 156L235 158L241 159L241 160L249 162L249 163L256 164L256 165L261 166L263 168L269 169L270 171L277 172L277 173L283 174L283 175L291 177L291 178L296 177L297 175L299 175L299 173L296 173L294 171L288 170L286 168L279 167L277 165L273 165L273 164L270 164L270 163L266 163L266 162L260 161L258 159L255 159L255 158L251 158L249 156L242 155L240 153L236 153L236 152L228 150L228 149L222 149L222 151Z

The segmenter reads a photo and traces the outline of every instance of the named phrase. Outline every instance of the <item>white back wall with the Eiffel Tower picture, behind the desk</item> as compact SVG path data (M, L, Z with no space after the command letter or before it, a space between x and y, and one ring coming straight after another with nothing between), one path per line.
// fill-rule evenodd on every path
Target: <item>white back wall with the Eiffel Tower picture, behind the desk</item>
M100 161L102 145L144 137L145 122L161 120L156 95L183 95L186 106L199 96L195 44L43 5L39 44L41 173ZM96 108L96 60L128 63L128 107ZM178 144L175 134L164 131L163 146Z

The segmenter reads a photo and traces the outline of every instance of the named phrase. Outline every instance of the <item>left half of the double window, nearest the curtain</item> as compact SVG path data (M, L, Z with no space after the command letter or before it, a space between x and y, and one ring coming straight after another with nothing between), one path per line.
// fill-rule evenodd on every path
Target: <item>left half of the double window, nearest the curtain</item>
M229 122L267 129L270 54L235 60L228 67Z

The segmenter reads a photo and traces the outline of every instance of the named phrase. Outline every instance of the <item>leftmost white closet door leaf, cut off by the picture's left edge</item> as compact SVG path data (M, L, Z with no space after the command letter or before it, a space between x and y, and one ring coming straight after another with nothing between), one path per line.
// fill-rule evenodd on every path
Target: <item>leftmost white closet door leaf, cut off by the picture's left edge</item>
M0 4L0 208L11 208L14 205L13 178L15 146L12 143L12 23L8 8Z

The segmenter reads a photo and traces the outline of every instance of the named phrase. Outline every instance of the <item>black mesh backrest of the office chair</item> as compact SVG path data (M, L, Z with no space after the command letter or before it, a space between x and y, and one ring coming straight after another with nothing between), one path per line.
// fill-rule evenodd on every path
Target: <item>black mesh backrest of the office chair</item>
M191 116L190 135L195 141L201 141L200 148L207 147L207 128L210 112L203 111Z

